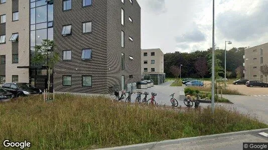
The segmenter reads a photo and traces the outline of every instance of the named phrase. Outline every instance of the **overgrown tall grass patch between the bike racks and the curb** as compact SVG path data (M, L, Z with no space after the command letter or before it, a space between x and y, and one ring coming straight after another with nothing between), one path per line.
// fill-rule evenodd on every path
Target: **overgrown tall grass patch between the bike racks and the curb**
M111 103L102 96L42 95L0 103L0 141L31 141L33 149L100 148L267 127L223 107L186 113ZM0 145L0 149L3 147Z

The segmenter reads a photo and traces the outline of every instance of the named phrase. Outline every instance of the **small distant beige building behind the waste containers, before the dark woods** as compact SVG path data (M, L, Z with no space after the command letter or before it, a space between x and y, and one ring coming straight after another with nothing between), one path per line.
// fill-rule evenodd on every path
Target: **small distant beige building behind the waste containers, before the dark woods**
M142 78L152 79L155 84L165 81L164 53L160 48L142 49L141 63Z

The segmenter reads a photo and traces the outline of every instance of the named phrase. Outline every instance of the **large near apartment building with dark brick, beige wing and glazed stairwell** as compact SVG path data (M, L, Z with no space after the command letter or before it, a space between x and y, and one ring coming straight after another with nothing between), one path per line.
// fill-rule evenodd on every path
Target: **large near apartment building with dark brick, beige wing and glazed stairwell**
M34 47L43 39L54 40L53 50L61 57L50 76L51 89L55 91L108 93L112 88L124 89L126 83L141 79L141 7L136 0L1 1L5 1L0 4L1 15L11 11L14 1L18 1L23 20L19 19L17 24L10 21L10 12L6 26L11 31L7 27L3 32L4 23L0 24L1 35L19 33L20 37L19 63L7 61L0 65L0 75L5 75L6 82L30 82L47 88L46 66L32 62ZM14 30L13 25L21 28ZM1 62L2 55L8 60L16 54L13 43L0 44L5 49L0 51ZM19 73L14 74L18 80L11 79L12 71Z

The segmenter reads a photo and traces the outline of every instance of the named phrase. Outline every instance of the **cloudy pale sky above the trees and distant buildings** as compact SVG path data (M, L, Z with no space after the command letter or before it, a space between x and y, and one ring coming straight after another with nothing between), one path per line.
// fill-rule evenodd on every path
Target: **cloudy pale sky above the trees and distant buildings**
M212 0L137 0L142 49L192 52L212 47ZM268 0L215 0L215 44L226 49L268 42Z

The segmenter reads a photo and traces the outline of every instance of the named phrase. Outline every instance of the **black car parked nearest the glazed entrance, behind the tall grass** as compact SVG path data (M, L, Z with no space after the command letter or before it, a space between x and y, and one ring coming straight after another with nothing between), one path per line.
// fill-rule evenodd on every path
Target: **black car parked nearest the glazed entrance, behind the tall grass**
M29 83L4 83L2 87L13 93L16 97L42 93L41 89Z

